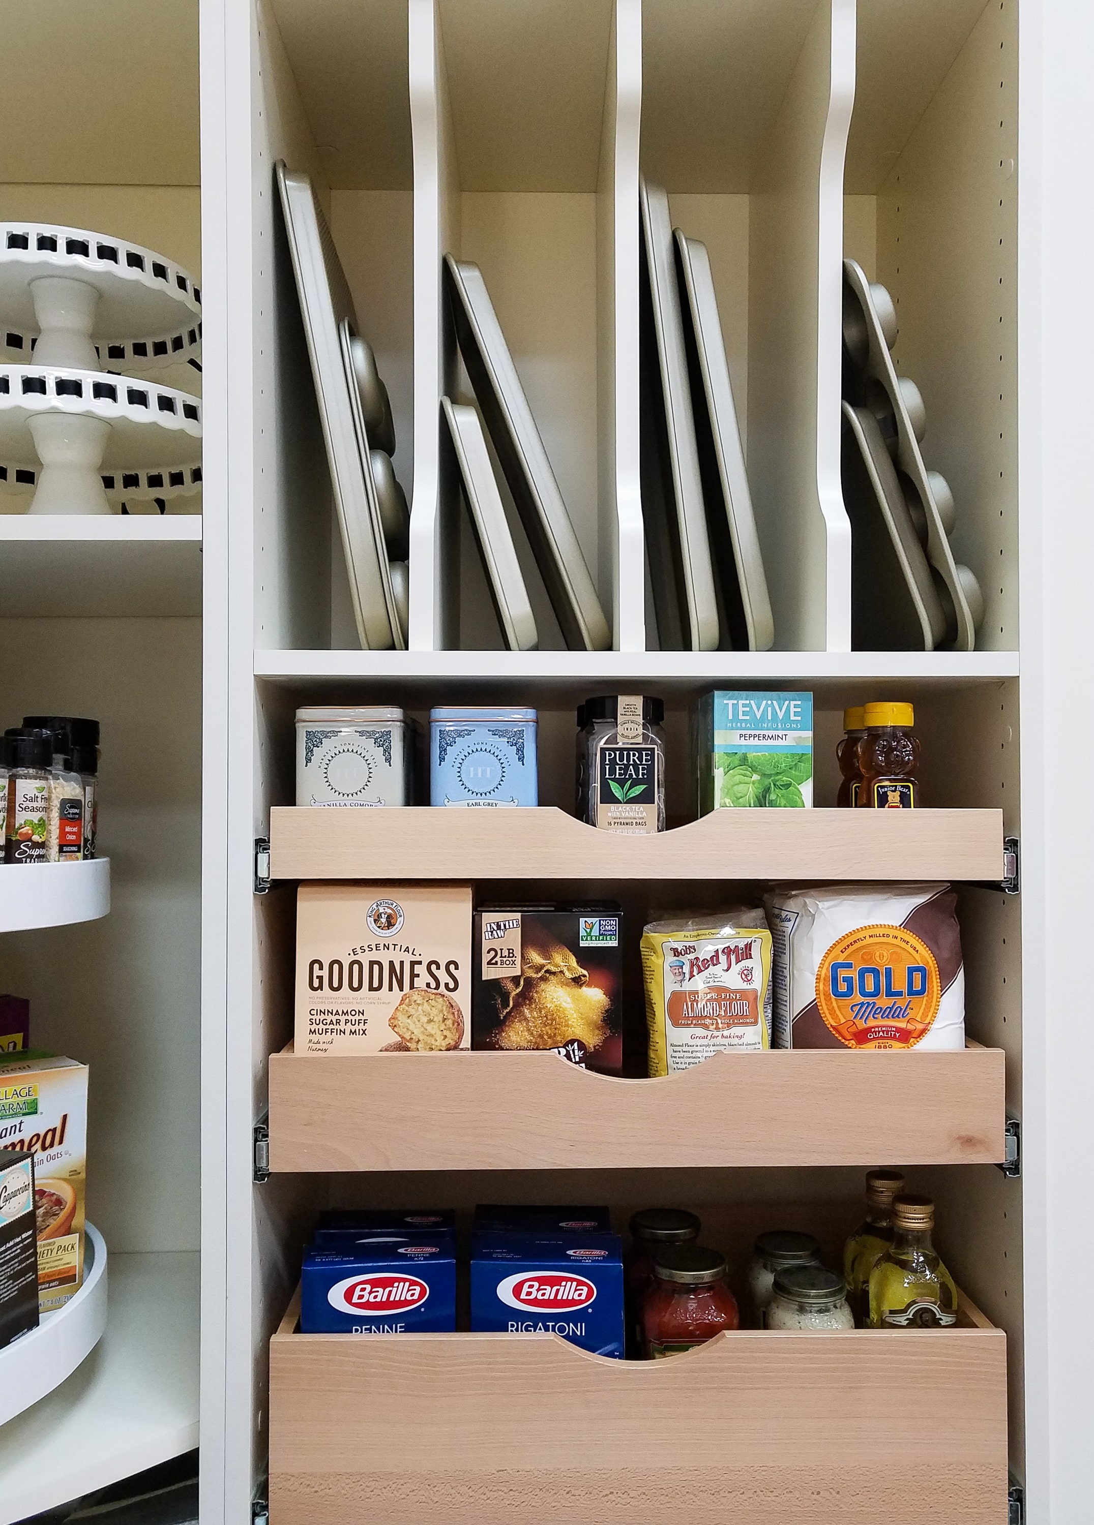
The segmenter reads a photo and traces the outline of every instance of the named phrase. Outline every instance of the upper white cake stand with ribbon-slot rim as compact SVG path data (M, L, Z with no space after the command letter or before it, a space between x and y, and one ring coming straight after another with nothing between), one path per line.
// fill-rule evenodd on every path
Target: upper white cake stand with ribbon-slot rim
M201 355L189 273L79 227L0 223L0 349L24 364L145 371Z

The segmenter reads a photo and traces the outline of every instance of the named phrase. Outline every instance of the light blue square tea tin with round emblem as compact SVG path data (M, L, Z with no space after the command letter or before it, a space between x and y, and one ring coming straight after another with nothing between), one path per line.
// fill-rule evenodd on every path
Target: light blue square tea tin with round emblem
M429 799L432 805L539 805L536 711L432 709Z

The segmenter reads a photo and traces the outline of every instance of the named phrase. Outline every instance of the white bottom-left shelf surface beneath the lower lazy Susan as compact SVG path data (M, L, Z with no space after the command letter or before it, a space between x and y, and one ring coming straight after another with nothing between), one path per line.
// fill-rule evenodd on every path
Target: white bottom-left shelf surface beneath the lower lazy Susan
M34 1408L0 1427L0 1525L197 1446L198 1255L113 1255L107 1330Z

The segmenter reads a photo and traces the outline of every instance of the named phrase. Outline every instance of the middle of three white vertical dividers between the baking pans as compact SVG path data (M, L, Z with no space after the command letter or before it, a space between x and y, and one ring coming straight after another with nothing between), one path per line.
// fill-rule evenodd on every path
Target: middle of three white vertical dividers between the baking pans
M638 403L638 152L642 0L616 0L597 186L600 598L616 651L645 650Z

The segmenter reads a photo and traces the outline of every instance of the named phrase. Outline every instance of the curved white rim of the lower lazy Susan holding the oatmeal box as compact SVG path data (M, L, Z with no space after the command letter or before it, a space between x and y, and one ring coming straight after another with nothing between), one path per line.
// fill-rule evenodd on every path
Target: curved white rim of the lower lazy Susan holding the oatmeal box
M107 1246L87 1225L84 1286L56 1313L44 1315L14 1345L0 1351L0 1424L23 1414L70 1377L107 1327Z

